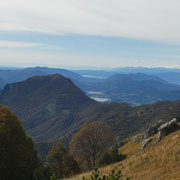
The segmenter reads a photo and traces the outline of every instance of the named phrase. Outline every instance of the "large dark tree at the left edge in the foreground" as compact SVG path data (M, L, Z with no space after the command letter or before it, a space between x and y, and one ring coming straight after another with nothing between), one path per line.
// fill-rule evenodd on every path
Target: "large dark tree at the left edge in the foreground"
M17 116L0 106L0 179L33 180L40 164L32 139Z

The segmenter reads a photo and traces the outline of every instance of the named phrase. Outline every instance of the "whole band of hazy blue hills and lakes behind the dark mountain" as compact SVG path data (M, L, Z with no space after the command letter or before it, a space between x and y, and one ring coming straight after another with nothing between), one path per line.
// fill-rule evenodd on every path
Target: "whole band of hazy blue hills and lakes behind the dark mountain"
M56 73L70 78L86 95L101 102L127 102L137 106L157 101L180 100L180 70L165 68L118 68L113 71L74 72L47 67L2 69L0 88L3 89L7 83L24 81L33 76Z

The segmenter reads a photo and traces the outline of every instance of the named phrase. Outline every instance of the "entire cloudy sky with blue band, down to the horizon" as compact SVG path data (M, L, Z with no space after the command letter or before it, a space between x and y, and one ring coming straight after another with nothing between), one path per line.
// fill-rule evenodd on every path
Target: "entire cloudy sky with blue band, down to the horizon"
M180 68L179 0L0 0L0 66Z

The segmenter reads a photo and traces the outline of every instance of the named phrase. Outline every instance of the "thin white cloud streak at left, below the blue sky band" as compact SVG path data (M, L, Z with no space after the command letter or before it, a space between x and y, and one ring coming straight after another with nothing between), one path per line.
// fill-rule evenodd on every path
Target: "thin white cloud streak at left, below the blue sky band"
M42 48L42 49L54 49L63 50L61 47L42 44L42 43L31 43L31 42L19 42L19 41L1 41L0 47L3 48Z

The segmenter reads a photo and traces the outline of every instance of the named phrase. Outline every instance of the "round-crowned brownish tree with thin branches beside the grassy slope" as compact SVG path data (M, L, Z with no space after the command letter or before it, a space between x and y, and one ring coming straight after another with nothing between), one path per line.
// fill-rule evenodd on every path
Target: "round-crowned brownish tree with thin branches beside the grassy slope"
M88 168L92 169L101 153L113 143L114 137L106 123L91 122L84 124L79 132L74 134L70 148L75 156L83 157Z

